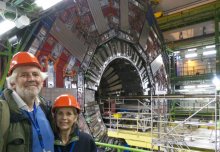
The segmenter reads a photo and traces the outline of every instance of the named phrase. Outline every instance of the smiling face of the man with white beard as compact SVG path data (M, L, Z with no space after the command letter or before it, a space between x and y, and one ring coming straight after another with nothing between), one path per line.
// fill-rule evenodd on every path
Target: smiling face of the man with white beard
M20 66L13 89L22 98L36 97L43 87L43 79L40 76L40 69L35 66Z

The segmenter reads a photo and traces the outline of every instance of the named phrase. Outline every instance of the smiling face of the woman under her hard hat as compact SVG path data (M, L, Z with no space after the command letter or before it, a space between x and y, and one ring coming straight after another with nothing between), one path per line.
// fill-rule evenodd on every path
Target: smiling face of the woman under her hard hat
M56 125L60 131L68 131L77 121L78 114L73 108L58 108L55 114Z

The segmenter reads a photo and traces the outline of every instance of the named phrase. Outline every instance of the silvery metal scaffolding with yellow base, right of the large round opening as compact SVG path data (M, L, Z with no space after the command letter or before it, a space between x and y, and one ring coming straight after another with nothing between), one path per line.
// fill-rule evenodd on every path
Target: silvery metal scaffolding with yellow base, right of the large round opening
M193 103L193 100L198 103ZM108 101L115 102L114 111ZM122 105L128 101L133 102L136 107L128 105L123 107ZM181 108L185 109L181 115L179 114L181 108L172 111L171 103L176 101L179 103L176 105L177 107L182 106ZM184 104L188 101L191 104ZM109 105L101 111L108 112L108 115L103 116L103 119L109 120L106 123L108 135L124 138L128 141L129 136L133 136L134 132L135 134L145 133L146 140L144 142L148 145L142 141L142 146L137 142L133 142L136 145L132 146L160 151L201 151L205 149L217 152L220 150L218 140L220 136L220 109L217 92L215 95L208 96L161 95L151 96L151 98L139 96L139 98L133 97L133 99L118 97L108 99L105 102L108 102ZM134 104L135 102L137 104ZM191 111L188 109L189 107ZM126 112L121 111L125 109ZM138 135L134 140L139 140Z

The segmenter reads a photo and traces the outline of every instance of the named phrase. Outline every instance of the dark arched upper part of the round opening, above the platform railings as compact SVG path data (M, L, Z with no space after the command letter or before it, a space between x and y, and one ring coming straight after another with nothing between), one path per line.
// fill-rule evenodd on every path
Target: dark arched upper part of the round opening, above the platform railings
M137 69L124 58L113 60L106 67L96 97L143 95Z

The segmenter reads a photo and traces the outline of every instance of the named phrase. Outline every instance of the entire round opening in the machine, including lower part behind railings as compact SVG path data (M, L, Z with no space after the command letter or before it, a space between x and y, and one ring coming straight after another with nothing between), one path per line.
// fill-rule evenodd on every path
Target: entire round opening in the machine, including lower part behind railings
M110 62L101 77L100 85L96 91L99 99L100 112L107 127L134 129L136 117L140 110L139 101L133 99L106 99L106 97L143 95L140 76L135 66L124 58L117 58ZM129 120L117 120L125 116ZM120 123L120 125L118 124Z

